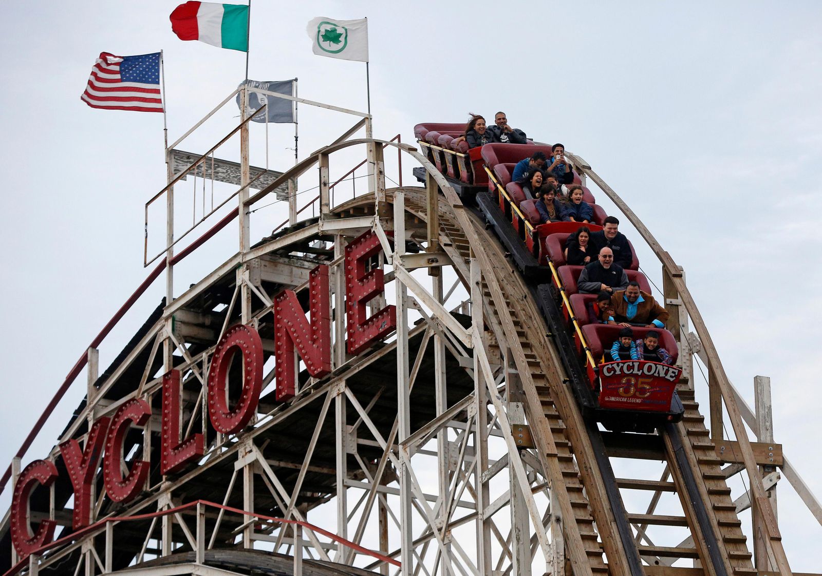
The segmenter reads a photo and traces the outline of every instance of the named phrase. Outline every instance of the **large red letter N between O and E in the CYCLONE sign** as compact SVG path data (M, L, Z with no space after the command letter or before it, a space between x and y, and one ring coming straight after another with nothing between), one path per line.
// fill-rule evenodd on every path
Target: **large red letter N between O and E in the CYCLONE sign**
M311 323L293 290L283 290L275 297L274 349L277 374L277 400L293 398L297 382L295 350L315 378L331 371L331 312L328 288L328 266L311 271L308 285L308 309Z

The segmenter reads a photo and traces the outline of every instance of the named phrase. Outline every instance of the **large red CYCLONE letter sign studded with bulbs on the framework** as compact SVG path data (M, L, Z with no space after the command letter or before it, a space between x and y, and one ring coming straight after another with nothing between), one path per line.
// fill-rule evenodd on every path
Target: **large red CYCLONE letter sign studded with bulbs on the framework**
M374 343L385 339L396 328L396 307L386 306L369 311L369 302L385 292L382 270L372 268L371 261L381 253L382 245L373 232L364 233L345 247L345 324L346 350L356 356ZM309 274L308 291L312 297L306 318L297 293L284 289L275 296L274 349L275 400L285 402L297 394L299 366L302 359L310 376L322 378L330 374L331 365L331 295L328 265L318 265ZM340 313L341 310L336 310ZM240 377L231 380L233 360L241 367ZM266 357L260 334L252 325L234 325L225 329L210 358L207 380L208 421L211 429L224 435L240 435L256 414L263 384ZM229 391L233 400L229 401ZM182 472L198 465L205 454L205 438L201 433L184 433L180 408L180 372L171 370L162 378L162 414L155 417L151 404L144 398L124 399L113 415L100 416L81 449L76 439L59 445L62 465L52 460L35 460L18 475L12 495L12 545L21 557L37 551L54 537L56 523L44 519L32 525L30 496L39 486L51 486L65 475L72 483L74 508L72 529L79 530L93 523L95 487L99 470L104 477L104 493L113 502L125 504L143 495L152 463L150 454L128 460L123 442L133 427L144 428L152 423L162 434L159 471L165 475ZM186 437L183 437L186 436ZM102 494L100 495L102 497Z

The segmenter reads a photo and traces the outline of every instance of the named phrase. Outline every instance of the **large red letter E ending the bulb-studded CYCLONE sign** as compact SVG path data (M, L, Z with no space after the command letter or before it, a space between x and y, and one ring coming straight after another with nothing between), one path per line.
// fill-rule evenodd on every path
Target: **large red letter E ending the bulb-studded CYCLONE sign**
M382 293L382 270L365 267L368 259L382 250L380 239L373 232L364 233L345 247L345 310L347 312L348 349L358 354L390 334L397 325L396 306L386 306L370 318L366 303Z

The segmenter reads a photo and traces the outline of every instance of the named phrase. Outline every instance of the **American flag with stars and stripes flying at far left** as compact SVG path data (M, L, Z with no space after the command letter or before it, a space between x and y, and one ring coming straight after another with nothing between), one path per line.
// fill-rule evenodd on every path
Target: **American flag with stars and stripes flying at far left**
M159 52L140 56L100 53L80 99L91 108L163 112Z

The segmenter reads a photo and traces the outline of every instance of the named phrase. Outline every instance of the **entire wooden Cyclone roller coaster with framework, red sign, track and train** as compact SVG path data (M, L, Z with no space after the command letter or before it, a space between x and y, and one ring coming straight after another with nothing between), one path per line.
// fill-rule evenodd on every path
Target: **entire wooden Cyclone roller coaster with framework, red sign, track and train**
M296 99L239 88L224 104L248 91ZM778 480L822 522L820 505L768 411L755 416L727 379L681 268L588 162L566 154L594 219L605 211L589 183L662 264L673 366L602 361L613 328L587 323L579 268L557 249L575 226L540 224L510 182L538 144L468 149L455 123L418 124L417 146L378 140L370 115L334 109L358 122L282 173L249 164L245 114L206 154L180 152L187 135L166 150L187 160L150 200L169 207L159 261L2 479L3 573L793 574ZM215 154L235 134L237 206L179 249L190 231L175 233L173 195L186 177L219 179L230 163ZM365 152L359 195L341 184L358 168L331 177L344 150ZM403 159L421 186L402 185ZM289 219L252 242L252 214L275 195ZM174 265L237 222L237 253L175 292ZM100 342L161 274L164 301L101 371ZM24 466L83 371L86 398ZM735 496L737 474L749 487Z

